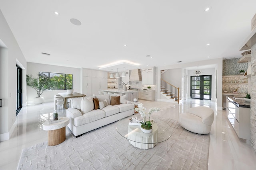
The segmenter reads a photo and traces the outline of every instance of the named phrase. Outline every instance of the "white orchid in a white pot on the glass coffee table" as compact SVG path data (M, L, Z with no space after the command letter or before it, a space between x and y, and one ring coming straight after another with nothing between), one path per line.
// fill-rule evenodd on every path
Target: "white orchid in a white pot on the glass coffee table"
M143 118L143 122L141 123L140 129L142 132L144 133L151 133L152 132L152 124L150 122L150 115L152 112L154 111L159 111L159 108L156 107L152 107L151 109L149 109L148 114L146 113L146 108L143 106L142 103L138 104L138 107L135 108L135 111L138 111L141 115L141 117ZM148 121L146 121L146 115L148 115Z

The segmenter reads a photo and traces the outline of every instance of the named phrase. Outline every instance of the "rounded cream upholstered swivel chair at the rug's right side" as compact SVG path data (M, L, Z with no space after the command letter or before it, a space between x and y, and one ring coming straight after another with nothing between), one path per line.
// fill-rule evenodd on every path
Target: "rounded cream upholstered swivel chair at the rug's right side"
M212 128L214 112L209 107L192 107L179 116L179 123L184 129L198 134L208 134Z

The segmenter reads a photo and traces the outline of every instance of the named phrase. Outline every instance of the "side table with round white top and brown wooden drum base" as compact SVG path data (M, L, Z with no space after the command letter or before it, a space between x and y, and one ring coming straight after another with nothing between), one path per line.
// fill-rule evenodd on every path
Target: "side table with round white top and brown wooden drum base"
M48 145L55 146L66 140L66 125L69 123L68 117L59 117L60 121L56 123L46 121L43 123L43 129L48 131Z

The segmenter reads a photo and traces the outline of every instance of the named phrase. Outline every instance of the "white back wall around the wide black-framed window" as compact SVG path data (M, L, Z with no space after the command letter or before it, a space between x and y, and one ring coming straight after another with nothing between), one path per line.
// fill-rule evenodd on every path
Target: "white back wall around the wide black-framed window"
M39 63L27 63L27 74L32 74L34 78L38 78L38 72L54 72L73 74L73 89L74 92L81 92L80 88L80 68L55 66ZM41 95L44 97L45 102L53 101L54 95L66 92L66 90L46 90ZM33 104L33 99L37 97L36 90L27 86L27 104Z

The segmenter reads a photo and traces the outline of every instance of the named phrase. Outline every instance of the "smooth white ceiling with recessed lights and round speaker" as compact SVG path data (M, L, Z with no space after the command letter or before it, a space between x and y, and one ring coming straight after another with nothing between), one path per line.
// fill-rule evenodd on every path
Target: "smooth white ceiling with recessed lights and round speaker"
M92 69L119 60L146 68L240 57L255 6L256 0L0 0L28 62ZM123 65L103 70L116 68Z

